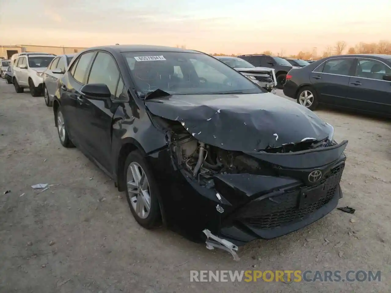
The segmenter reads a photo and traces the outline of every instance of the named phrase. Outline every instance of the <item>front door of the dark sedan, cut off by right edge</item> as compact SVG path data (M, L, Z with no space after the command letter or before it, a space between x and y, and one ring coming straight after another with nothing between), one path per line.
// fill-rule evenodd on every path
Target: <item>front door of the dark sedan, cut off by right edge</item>
M349 81L349 99L352 108L391 114L391 82L383 75L391 68L375 59L358 58L353 77Z

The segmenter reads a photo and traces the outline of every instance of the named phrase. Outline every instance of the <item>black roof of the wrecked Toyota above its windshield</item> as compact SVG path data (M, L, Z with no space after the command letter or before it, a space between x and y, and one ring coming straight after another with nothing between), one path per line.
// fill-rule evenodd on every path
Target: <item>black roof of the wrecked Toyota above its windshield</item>
M166 46L153 45L113 45L113 46L97 46L86 49L88 50L106 50L109 52L186 52L186 53L202 53L195 50L188 50L182 48L173 48Z

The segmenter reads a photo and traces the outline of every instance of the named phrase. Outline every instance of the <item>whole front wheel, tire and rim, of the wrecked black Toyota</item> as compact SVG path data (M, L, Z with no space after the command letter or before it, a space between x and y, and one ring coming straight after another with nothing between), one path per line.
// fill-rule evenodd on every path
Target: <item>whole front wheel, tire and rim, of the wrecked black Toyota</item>
M126 199L137 223L152 229L161 221L159 188L148 162L139 151L131 152L125 161Z

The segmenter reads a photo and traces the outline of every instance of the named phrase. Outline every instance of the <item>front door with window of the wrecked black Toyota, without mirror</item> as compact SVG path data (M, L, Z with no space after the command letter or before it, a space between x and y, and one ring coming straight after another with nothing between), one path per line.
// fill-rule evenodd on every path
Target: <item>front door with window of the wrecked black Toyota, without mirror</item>
M117 62L108 52L99 51L86 79L88 84L106 84L111 92L109 101L93 100L81 95L77 104L77 121L86 150L113 173L111 160L111 126L118 106L129 101Z

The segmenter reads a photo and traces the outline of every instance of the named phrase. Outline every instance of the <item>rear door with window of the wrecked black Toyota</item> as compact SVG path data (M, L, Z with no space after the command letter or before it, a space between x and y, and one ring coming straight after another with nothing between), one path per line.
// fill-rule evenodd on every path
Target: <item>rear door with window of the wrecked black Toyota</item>
M88 51L81 54L72 67L66 73L59 86L61 86L61 109L68 134L77 144L82 145L84 125L78 121L76 116L76 107L81 97L80 89L85 84L86 75L90 68L95 51Z

